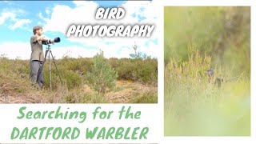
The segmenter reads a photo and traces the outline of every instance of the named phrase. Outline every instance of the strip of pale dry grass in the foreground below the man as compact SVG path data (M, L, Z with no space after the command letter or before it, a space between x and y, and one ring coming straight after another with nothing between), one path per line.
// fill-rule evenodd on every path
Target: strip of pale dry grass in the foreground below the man
M33 90L30 89L30 85L20 87L17 84L6 83L0 85L0 103L127 103L135 98L141 98L146 93L152 93L157 98L157 89L156 86L146 86L139 82L118 81L115 90L98 95L87 85L75 90L59 86L57 90L50 91ZM24 92L18 94L16 90Z

